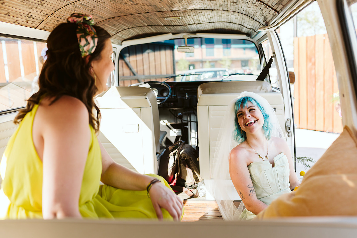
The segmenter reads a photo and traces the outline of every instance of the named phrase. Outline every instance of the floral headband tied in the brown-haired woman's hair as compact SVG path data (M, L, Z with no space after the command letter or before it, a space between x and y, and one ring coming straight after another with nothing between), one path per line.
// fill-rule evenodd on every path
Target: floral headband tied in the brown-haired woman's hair
M97 32L93 28L94 21L91 15L73 13L67 22L77 24L77 38L82 57L91 55L98 42Z

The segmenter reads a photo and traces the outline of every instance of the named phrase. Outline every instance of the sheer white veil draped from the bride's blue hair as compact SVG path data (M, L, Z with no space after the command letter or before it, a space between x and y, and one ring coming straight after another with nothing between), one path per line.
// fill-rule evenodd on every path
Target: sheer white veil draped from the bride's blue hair
M238 145L238 143L233 140L236 117L234 109L235 102L239 98L246 96L254 98L269 115L269 120L273 127L271 136L285 138L274 109L262 96L253 92L242 92L240 96L229 103L218 134L218 146L216 147L213 158L213 184L210 189L210 192L218 204L218 209L220 210L223 219L228 221L237 220L240 217L243 208L242 202L238 207L233 203L235 198L239 198L239 196L229 175L228 161L232 148Z

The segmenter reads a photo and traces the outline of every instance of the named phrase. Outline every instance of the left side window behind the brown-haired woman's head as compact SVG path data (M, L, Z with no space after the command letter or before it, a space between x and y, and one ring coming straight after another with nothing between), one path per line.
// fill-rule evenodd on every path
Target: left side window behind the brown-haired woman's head
M46 43L0 37L0 111L26 105L38 91Z

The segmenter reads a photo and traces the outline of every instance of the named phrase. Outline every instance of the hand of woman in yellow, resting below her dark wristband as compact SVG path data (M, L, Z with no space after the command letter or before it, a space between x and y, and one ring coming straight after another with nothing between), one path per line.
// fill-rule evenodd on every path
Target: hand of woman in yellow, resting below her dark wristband
M149 190L149 195L157 218L159 218L160 221L163 219L160 208L165 208L174 218L174 221L180 221L183 203L174 192L160 182L152 185Z

